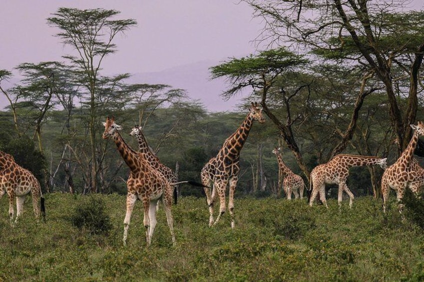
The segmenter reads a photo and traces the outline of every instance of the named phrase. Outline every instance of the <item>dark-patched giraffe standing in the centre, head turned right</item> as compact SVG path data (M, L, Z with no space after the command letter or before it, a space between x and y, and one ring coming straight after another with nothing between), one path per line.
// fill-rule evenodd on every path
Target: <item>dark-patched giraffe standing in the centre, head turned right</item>
M225 190L229 183L228 210L231 217L231 228L234 228L234 191L238 181L239 154L247 139L253 121L265 122L262 116L262 109L257 103L251 103L249 113L237 128L223 143L217 155L211 158L201 169L200 178L204 186L207 205L209 206L209 227L219 222L225 212ZM210 193L212 188L212 193ZM219 196L219 214L213 222L213 203Z

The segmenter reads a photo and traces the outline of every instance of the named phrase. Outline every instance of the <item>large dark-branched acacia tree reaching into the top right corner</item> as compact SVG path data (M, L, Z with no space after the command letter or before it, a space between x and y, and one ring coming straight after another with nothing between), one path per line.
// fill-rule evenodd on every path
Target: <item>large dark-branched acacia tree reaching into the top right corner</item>
M359 77L374 75L387 95L398 152L403 150L422 91L417 83L424 51L423 11L399 12L407 4L404 0L244 1L255 16L264 19L257 40L305 50L345 66L360 66ZM395 75L395 68L401 75ZM406 84L408 87L396 89ZM398 103L399 91L407 97L403 108Z

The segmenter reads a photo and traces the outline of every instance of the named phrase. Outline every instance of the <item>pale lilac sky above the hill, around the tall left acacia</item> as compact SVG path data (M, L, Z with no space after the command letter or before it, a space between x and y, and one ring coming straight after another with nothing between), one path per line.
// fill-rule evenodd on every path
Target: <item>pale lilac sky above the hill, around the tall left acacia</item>
M137 26L116 37L106 74L153 72L199 60L222 61L255 51L261 28L238 0L2 0L0 69L23 62L61 61L66 52L46 18L58 7L115 9Z

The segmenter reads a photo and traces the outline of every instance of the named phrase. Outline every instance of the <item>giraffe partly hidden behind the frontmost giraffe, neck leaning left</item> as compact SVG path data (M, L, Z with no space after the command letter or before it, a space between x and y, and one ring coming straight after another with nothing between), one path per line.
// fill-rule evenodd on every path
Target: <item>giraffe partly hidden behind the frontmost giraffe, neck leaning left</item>
M138 141L138 150L141 154L141 157L147 160L147 162L150 164L152 168L159 171L167 180L169 183L176 183L178 179L176 178L176 175L173 173L173 171L168 168L167 166L163 165L159 158L156 157L156 155L150 150L150 147L147 144L147 140L144 137L144 134L142 132L142 127L135 125L131 132L129 133L131 136L135 136ZM177 195L176 195L176 189L177 186L174 186L173 189L173 198L174 198L174 204L176 205L177 202ZM158 208L159 206L156 206Z

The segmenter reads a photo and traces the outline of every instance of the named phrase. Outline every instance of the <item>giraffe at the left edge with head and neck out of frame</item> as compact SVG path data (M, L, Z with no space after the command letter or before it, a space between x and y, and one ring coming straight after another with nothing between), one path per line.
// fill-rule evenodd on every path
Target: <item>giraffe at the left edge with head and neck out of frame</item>
M19 166L11 155L0 151L0 198L5 193L9 198L11 224L14 217L13 199L16 197L16 218L14 220L16 223L22 213L25 197L29 193L32 196L35 217L38 220L41 215L45 221L44 197L38 180L29 170Z

